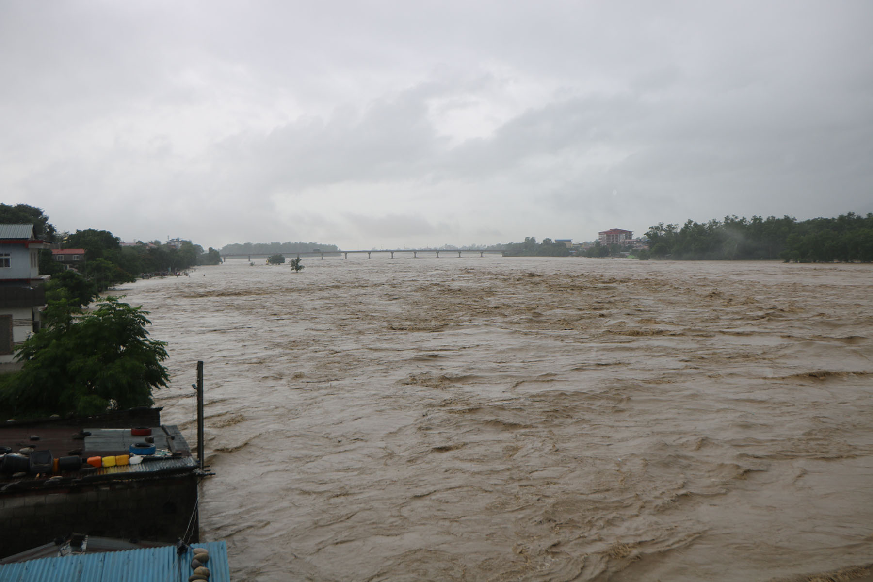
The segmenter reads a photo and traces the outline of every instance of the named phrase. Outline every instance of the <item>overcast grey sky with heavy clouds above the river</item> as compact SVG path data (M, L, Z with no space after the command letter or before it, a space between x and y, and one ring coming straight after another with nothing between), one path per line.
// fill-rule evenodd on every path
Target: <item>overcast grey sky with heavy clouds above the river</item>
M873 212L873 2L0 0L0 202L347 250Z

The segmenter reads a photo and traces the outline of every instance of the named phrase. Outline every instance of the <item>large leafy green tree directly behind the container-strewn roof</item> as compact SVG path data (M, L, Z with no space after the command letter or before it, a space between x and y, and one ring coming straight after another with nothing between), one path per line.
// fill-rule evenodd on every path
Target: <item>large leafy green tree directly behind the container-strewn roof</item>
M82 313L65 299L45 310L48 327L24 342L22 369L0 387L0 407L17 417L99 414L153 403L166 387L166 343L148 339L141 307L107 298Z

